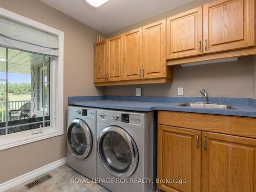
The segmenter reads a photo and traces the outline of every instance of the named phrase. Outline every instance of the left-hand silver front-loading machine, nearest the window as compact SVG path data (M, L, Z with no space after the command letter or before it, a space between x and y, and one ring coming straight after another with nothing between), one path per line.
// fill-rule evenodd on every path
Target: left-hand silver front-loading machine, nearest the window
M68 106L67 164L91 179L96 178L96 110Z

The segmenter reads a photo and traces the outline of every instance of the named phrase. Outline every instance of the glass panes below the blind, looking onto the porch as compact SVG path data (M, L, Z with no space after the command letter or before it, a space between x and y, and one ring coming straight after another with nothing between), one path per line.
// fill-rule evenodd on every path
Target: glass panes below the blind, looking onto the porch
M50 57L0 47L0 135L50 126Z

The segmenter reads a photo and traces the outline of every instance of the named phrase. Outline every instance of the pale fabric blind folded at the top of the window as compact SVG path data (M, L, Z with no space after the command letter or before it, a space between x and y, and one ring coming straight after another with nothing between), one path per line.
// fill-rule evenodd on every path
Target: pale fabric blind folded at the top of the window
M0 18L0 46L58 56L58 38Z

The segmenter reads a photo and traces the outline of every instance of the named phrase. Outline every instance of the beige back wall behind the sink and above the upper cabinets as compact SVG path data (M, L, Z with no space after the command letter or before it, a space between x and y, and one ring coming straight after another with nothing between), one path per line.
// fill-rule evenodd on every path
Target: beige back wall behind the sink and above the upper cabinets
M107 36L111 37L116 34L130 31L209 2L212 2L212 0L195 0L154 17L142 20L131 26L117 30ZM256 79L254 81L256 84ZM151 84L143 86L108 87L105 88L105 95L135 95L136 87L142 87L143 96L178 96L178 87L184 88L184 96L199 96L198 90L204 87L209 92L210 97L253 97L252 58L244 57L240 58L238 62L187 68L175 66L174 81L171 85ZM255 92L256 88L254 96L256 96Z

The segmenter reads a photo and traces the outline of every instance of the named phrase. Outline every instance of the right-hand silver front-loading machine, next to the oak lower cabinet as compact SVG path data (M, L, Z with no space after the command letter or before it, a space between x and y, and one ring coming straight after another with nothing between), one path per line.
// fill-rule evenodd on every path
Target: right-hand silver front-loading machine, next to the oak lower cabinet
M156 136L153 112L97 110L99 184L112 192L155 191Z

